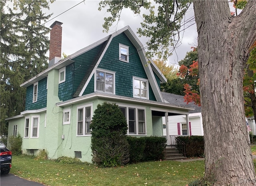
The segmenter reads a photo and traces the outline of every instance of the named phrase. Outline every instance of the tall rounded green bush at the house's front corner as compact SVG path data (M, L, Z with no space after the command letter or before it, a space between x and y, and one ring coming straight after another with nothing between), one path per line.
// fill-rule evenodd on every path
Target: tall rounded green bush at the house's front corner
M94 111L92 123L92 161L113 167L129 161L126 119L115 103L104 102Z

